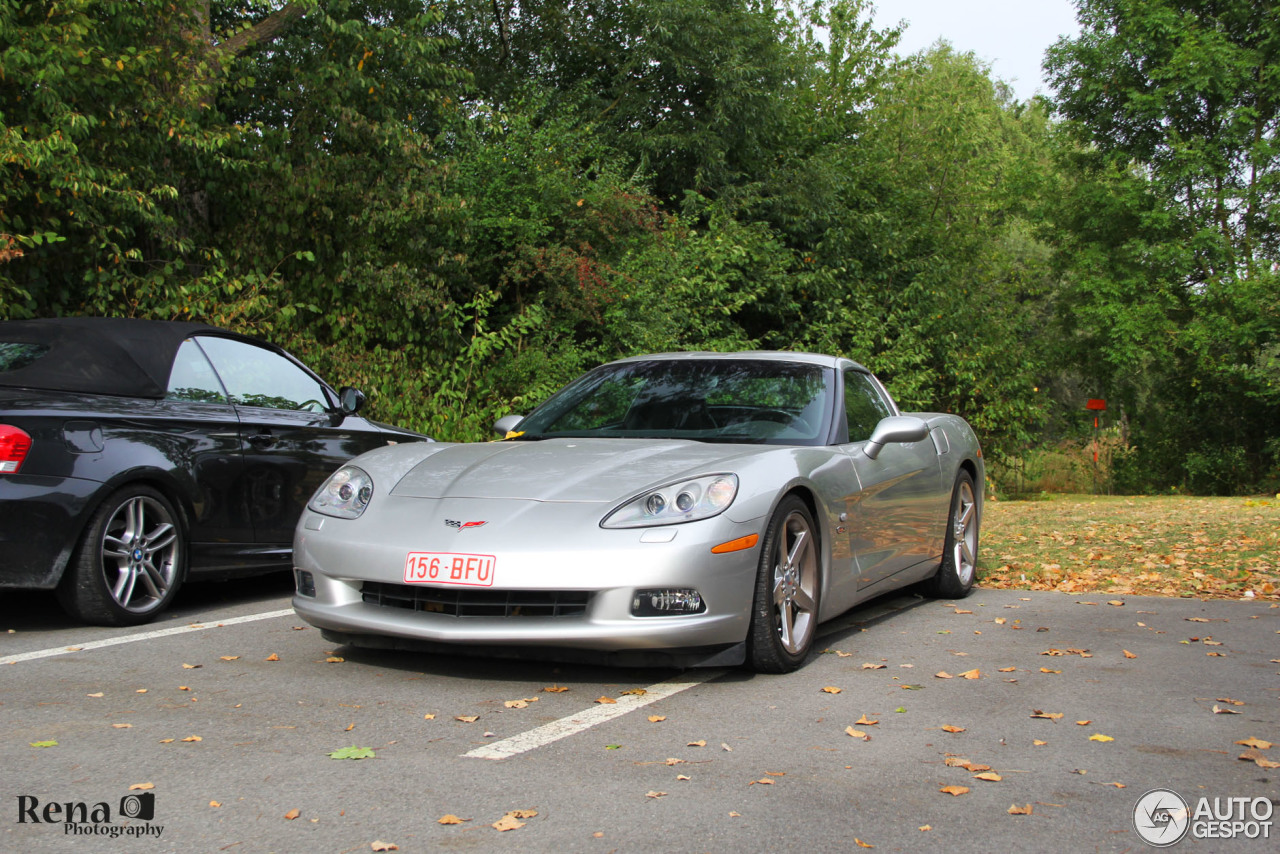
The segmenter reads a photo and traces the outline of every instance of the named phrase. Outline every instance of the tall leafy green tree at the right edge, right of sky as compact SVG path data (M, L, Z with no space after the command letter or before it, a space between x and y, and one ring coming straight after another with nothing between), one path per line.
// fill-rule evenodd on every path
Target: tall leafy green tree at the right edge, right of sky
M1070 330L1135 406L1144 485L1247 488L1277 462L1280 15L1249 0L1079 9L1082 35L1046 67L1079 140L1075 198L1116 216L1100 228L1100 207L1076 205L1064 220Z

